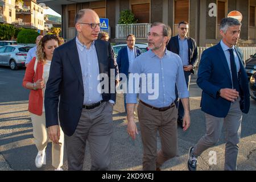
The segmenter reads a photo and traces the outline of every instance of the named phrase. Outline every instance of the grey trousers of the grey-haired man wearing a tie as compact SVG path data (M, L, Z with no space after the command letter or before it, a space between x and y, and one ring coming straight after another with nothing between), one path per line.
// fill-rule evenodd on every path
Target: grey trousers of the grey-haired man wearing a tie
M207 126L206 134L197 142L193 154L196 156L214 146L221 137L222 127L225 131L225 167L224 170L237 169L238 143L240 142L242 111L239 105L240 98L231 104L225 118L217 118L205 113Z

